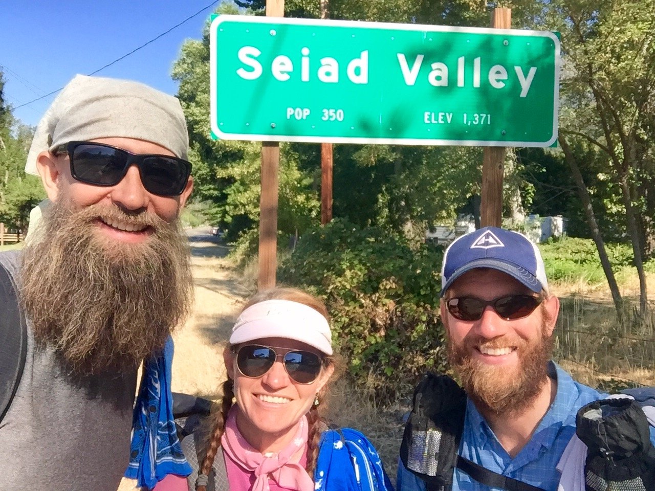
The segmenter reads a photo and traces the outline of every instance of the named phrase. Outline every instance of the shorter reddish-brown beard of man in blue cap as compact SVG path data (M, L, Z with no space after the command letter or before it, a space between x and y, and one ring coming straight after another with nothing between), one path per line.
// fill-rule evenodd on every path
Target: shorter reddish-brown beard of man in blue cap
M479 409L495 414L515 414L530 407L544 389L548 378L546 365L552 354L553 339L542 329L540 342L529 347L519 344L519 366L515 373L508 373L506 367L487 365L470 356L467 346L482 340L465 340L466 346L455 346L448 338L448 359L460 378L468 397ZM494 346L493 342L486 342ZM502 339L498 348L507 346Z

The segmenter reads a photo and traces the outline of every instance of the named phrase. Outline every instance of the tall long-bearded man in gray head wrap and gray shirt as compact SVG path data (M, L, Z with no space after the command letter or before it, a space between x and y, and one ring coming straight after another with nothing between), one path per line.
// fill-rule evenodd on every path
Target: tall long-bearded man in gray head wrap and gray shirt
M26 170L50 204L22 251L0 253L26 326L0 407L1 489L115 491L126 469L145 487L190 471L170 429L170 333L193 293L188 146L179 101L134 81L77 75L39 122Z

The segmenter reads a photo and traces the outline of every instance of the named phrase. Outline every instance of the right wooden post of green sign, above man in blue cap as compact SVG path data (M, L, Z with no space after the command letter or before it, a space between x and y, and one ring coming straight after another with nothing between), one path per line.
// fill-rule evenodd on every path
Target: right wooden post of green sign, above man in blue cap
M512 28L512 9L499 7L491 12L491 27ZM482 156L481 227L502 225L502 178L505 147L485 147Z

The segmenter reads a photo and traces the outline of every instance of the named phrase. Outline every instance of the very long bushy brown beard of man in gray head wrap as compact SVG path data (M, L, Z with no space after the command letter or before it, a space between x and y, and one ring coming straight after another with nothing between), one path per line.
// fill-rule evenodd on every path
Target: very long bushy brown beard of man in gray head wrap
M98 217L146 225L140 244L109 244ZM22 252L21 300L35 340L75 373L134 369L189 314L193 280L178 222L106 205L56 202Z

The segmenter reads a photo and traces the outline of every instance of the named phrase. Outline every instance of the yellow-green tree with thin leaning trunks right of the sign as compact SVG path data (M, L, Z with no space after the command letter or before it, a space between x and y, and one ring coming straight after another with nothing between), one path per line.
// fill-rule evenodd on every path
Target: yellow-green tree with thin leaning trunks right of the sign
M574 173L586 165L576 153L586 148L582 141L607 159L605 174L614 179L624 206L643 313L647 300L643 258L655 243L648 197L655 185L655 1L552 1L548 19L561 31L565 52L560 143L569 149L565 155ZM578 179L578 185L582 196L585 184ZM593 231L597 227L591 215L589 221ZM602 238L594 240L602 261ZM609 277L608 281L611 286Z

